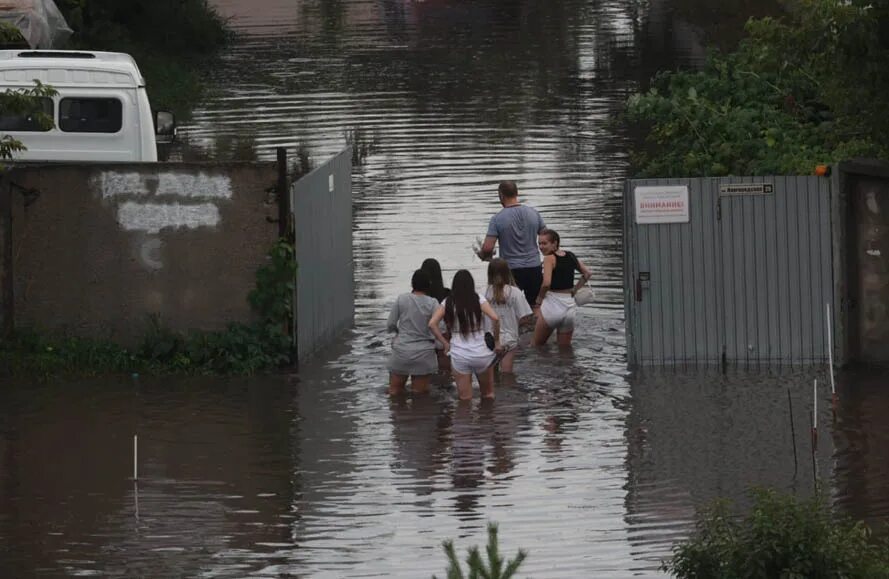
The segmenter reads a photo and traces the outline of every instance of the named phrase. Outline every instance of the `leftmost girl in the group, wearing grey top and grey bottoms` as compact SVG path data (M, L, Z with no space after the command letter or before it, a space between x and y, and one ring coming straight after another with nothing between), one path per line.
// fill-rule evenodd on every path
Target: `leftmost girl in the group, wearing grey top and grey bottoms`
M435 338L429 330L429 319L438 308L438 300L427 295L429 276L418 269L411 278L413 291L395 300L386 325L395 332L392 356L389 358L389 395L404 393L408 376L415 393L429 390L429 379L438 371Z

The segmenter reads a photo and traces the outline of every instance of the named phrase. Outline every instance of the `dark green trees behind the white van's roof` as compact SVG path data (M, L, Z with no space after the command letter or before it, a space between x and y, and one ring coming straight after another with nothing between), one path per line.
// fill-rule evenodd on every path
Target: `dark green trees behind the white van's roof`
M156 109L187 117L201 98L200 73L231 39L207 0L57 0L74 35L67 48L127 52Z

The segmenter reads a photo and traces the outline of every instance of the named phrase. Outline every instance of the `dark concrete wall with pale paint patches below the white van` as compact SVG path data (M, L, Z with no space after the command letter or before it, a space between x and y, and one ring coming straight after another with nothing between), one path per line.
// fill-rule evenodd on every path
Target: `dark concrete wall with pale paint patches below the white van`
M277 238L274 163L37 165L9 179L17 328L132 343L151 315L176 330L250 319Z

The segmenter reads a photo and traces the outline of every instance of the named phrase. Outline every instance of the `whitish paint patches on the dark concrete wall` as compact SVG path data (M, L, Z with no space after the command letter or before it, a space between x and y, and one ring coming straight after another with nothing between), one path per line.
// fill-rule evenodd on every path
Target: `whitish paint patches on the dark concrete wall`
M163 267L165 231L215 228L221 221L219 203L232 198L228 175L172 172L102 171L93 188L114 205L117 223L134 232L134 253L148 269Z

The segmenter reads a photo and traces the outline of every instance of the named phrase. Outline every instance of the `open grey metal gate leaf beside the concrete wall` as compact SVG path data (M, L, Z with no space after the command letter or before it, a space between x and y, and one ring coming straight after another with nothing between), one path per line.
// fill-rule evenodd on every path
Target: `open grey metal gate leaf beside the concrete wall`
M294 339L304 362L352 324L352 149L291 187L296 244Z

